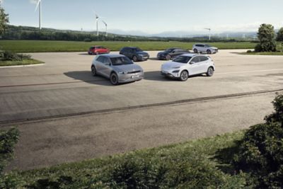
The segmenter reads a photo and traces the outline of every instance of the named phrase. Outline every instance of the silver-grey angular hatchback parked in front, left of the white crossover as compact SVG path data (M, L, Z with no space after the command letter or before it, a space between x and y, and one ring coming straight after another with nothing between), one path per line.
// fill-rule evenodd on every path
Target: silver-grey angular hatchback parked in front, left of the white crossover
M144 78L144 70L124 55L98 55L91 64L93 76L100 75L117 85Z

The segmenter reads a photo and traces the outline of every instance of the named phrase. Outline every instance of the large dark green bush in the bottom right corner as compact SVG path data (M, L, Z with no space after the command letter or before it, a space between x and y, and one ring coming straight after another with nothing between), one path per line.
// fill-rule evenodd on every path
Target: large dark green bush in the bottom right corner
M233 164L258 181L258 188L283 186L283 96L272 102L275 113L265 124L255 125L245 133Z

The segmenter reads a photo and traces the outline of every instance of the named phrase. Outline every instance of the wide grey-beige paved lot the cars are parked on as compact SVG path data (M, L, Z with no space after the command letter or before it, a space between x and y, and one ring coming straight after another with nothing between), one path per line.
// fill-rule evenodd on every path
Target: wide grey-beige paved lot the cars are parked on
M166 61L138 62L142 81L91 76L93 56L34 53L35 67L0 68L0 127L21 138L8 167L27 170L233 132L263 122L283 92L283 57L211 55L214 76L166 79ZM113 52L117 53L117 52Z

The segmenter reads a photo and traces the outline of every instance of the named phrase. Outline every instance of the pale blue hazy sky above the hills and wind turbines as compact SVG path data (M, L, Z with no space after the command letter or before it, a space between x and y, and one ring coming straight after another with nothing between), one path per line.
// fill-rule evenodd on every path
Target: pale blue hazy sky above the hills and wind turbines
M11 25L38 25L37 0L0 0ZM42 27L96 30L93 11L112 33L256 31L261 23L283 27L283 0L42 0ZM99 23L100 30L105 25Z

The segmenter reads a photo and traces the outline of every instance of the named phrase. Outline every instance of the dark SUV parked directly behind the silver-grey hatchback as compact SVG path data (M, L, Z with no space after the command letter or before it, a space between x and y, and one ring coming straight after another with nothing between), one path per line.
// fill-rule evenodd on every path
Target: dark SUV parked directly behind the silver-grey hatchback
M139 47L123 47L120 55L125 55L134 62L149 59L149 53L142 51Z

